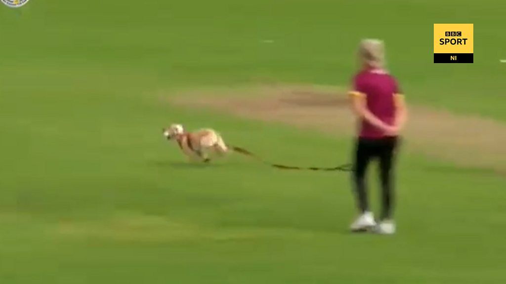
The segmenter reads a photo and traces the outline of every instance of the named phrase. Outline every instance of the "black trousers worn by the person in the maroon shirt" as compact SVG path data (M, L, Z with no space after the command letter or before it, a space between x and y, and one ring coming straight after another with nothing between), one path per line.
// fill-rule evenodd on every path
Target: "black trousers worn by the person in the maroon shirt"
M353 182L357 204L362 213L369 211L365 176L371 160L378 159L379 180L382 189L381 220L392 218L394 206L394 162L398 143L398 137L381 139L358 138L356 141Z

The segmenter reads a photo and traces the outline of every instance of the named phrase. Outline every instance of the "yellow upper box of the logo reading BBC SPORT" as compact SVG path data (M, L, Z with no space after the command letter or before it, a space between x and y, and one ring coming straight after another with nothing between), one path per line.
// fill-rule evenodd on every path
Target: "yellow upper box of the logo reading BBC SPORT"
M474 53L474 24L434 24L434 53Z

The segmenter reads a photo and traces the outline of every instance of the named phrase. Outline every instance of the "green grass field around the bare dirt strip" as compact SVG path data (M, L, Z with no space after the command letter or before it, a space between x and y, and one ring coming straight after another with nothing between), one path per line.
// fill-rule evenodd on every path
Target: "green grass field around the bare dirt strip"
M346 162L351 137L160 100L178 87L266 80L346 86L358 41L378 37L411 104L506 123L505 9L499 0L0 5L0 283L506 282L504 176L406 153L398 233L354 235L348 175L235 156L191 166L161 127L212 126L232 144L311 165ZM433 64L434 23L474 23L475 63Z

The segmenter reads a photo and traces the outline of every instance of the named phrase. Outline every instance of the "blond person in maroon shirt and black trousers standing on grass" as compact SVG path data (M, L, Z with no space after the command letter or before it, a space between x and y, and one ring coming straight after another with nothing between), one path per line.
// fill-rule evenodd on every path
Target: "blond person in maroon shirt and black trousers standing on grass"
M406 105L397 80L385 69L383 41L362 40L358 56L362 69L353 79L350 96L352 109L359 121L353 183L360 215L351 224L351 230L393 234L396 229L392 212L395 154L399 132L407 119ZM373 159L379 161L382 190L382 212L377 223L369 210L365 182L367 167Z

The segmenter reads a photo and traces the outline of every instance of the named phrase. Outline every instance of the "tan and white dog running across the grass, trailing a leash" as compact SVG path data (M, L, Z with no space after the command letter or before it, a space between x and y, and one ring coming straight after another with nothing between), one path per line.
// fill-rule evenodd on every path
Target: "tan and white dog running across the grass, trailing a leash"
M167 140L175 139L181 151L190 159L209 162L209 153L223 156L228 152L221 135L213 129L205 128L194 132L186 132L181 124L172 124L163 129Z

